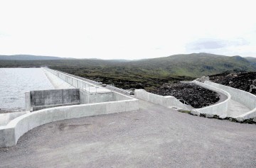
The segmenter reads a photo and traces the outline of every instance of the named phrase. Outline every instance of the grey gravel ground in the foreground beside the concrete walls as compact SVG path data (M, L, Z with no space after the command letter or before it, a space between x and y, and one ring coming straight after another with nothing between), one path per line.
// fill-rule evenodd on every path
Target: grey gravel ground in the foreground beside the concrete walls
M34 128L0 167L256 167L255 125L140 106Z

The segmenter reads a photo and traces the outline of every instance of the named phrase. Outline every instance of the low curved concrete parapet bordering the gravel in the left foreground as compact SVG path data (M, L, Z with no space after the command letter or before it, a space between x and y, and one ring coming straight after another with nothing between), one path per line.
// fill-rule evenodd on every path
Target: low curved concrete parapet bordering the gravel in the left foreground
M16 145L18 138L28 132L28 130L53 121L137 110L139 110L139 102L137 99L132 99L126 101L60 106L46 108L33 113L26 113L23 116L15 118L9 122L8 125L0 127L0 147Z

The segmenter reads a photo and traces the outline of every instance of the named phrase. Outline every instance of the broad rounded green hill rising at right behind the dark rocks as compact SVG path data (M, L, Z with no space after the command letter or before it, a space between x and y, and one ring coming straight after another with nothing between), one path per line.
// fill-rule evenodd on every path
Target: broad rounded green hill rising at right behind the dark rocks
M256 65L253 64L253 60L247 60L240 56L228 57L208 53L193 53L139 60L129 62L129 64L151 74L201 77L226 71L256 72Z

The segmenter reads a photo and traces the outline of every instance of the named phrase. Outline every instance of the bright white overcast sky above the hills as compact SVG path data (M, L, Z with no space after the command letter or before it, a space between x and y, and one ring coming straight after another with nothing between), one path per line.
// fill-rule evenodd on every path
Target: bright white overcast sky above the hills
M0 55L256 57L250 0L0 0Z

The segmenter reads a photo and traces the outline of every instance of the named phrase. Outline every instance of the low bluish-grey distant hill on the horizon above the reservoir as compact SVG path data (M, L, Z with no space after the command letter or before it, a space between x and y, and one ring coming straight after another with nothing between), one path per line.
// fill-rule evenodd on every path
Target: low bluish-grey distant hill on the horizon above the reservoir
M66 60L66 59L67 58L63 58L63 57L50 57L50 56L37 56L37 55L0 55L0 60Z

